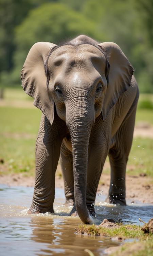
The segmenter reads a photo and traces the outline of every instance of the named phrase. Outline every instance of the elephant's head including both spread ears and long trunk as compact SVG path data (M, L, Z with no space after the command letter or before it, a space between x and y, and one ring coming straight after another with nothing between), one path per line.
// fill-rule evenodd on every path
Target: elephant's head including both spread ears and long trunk
M34 105L51 124L57 114L69 129L75 205L84 223L93 222L86 207L90 132L99 115L105 122L130 86L132 74L133 68L117 44L98 44L84 35L60 46L34 44L21 71L22 87L34 98Z

